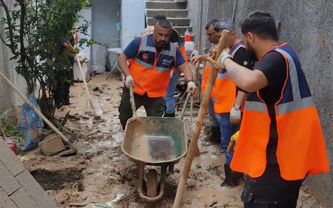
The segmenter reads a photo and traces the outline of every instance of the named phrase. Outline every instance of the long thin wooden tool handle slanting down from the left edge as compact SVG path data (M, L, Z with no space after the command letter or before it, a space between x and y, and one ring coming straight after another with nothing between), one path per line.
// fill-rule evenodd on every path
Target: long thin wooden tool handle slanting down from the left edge
M54 130L64 142L66 142L69 146L73 146L72 142L70 142L64 134L62 134L42 113L35 107L16 87L15 85L8 80L8 78L0 72L0 77L47 123L52 130Z

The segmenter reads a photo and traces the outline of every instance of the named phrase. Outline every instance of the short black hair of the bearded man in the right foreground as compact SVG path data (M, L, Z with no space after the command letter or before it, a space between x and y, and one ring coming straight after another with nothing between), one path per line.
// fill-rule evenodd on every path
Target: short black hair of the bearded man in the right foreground
M250 32L263 39L277 41L275 21L269 12L254 11L240 23L243 35Z

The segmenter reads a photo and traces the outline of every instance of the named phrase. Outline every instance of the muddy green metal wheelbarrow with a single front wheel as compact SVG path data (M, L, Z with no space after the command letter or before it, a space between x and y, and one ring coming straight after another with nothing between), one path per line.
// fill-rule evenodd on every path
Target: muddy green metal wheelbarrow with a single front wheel
M173 165L179 162L187 152L185 123L179 118L138 117L133 87L130 87L130 96L133 117L128 120L125 127L122 151L139 167L139 196L146 201L148 206L155 206L164 194L166 168L169 167L169 171L172 172ZM189 97L190 93L187 98ZM186 100L188 101L188 99ZM185 102L184 109L186 104ZM159 184L155 169L148 171L147 183L145 183L145 165L161 166ZM144 194L144 188L147 190L147 195Z

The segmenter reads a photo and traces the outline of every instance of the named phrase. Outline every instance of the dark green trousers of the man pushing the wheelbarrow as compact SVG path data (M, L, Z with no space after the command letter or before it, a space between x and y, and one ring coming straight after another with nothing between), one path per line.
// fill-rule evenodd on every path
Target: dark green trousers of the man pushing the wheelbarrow
M135 108L138 109L142 105L145 107L147 116L162 117L165 108L165 101L163 97L149 98L147 93L138 95L134 93ZM133 111L130 102L130 90L126 87L123 88L122 99L118 108L120 123L125 130L126 122L133 116Z

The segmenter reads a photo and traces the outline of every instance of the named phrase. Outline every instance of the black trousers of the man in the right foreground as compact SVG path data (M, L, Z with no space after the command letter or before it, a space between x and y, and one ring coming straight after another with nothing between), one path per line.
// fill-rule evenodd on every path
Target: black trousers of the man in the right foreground
M285 180L278 164L268 164L262 176L247 176L241 195L244 208L296 208L304 179Z

